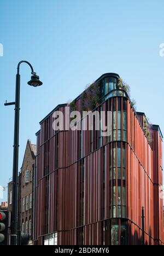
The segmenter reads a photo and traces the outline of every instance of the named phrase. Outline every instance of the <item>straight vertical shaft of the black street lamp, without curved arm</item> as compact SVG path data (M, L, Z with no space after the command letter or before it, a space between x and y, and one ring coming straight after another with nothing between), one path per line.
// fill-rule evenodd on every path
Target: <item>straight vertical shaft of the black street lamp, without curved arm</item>
M20 115L20 74L19 72L17 72L16 91L15 91L11 245L17 245L17 175L18 175L18 160L19 160L19 115Z

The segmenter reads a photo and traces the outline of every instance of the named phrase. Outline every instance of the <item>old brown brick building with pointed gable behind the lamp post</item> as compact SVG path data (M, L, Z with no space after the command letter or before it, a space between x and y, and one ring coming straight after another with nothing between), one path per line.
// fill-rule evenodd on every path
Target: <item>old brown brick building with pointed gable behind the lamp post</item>
M36 145L31 144L30 139L27 141L24 160L19 173L18 183L18 213L17 213L17 230L18 244L21 244L20 234L28 234L28 244L33 244L33 175L36 159ZM8 210L12 208L12 185L8 184Z

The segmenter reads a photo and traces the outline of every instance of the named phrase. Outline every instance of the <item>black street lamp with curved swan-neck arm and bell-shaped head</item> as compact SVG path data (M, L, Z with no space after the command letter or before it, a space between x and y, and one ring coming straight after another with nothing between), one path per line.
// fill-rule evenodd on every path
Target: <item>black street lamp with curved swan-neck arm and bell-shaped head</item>
M5 103L5 106L15 105L14 121L14 154L13 154L13 191L11 210L11 245L17 245L17 176L19 166L19 115L20 115L20 65L27 63L31 68L31 80L28 85L37 87L42 85L39 76L33 71L32 65L28 61L20 61L17 65L15 102Z

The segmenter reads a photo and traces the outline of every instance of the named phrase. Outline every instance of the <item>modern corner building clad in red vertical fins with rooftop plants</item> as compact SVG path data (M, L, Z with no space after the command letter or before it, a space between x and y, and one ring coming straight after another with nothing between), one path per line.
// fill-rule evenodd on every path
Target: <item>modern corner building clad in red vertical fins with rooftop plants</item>
M136 112L114 73L69 105L104 111L108 136L95 123L93 131L54 131L53 114L66 106L36 133L34 244L164 245L160 127Z

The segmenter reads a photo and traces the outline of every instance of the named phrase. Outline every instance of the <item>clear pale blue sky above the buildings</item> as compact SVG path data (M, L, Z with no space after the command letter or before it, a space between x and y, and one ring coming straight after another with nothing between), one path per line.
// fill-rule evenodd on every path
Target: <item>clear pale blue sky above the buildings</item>
M27 86L30 69L21 66L20 167L27 139L36 143L39 121L106 72L130 84L137 110L164 133L163 10L163 0L0 1L0 185L7 185L13 165L14 106L4 102L15 100L16 66L23 59L44 85Z

